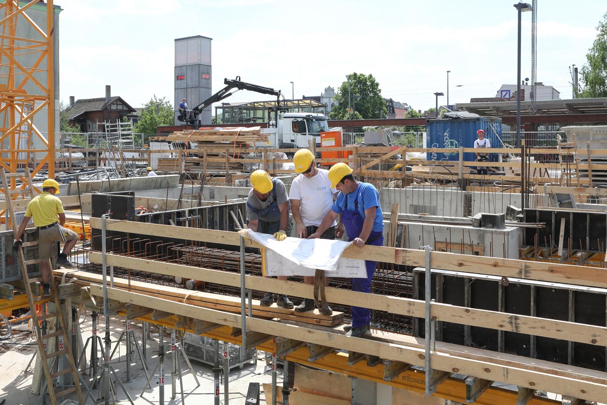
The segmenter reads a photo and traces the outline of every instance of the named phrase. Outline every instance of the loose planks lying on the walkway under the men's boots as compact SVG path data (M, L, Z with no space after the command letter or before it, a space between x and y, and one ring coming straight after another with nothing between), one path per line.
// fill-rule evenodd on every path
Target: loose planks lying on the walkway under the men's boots
M88 271L55 270L55 276L67 274L68 278L75 278L78 285L101 284L103 277L100 274ZM204 291L191 291L185 288L168 287L166 285L151 284L140 281L129 281L127 279L114 277L114 287L120 290L129 290L134 293L148 294L157 298L169 299L171 301L183 302L185 304L197 305L198 307L211 308L219 311L240 313L240 298L222 294L207 293ZM247 305L248 308L248 305ZM248 310L247 310L248 311ZM317 309L303 313L287 310L272 304L270 307L262 307L259 300L253 300L253 316L265 319L287 319L289 321L302 322L305 324L335 326L342 323L344 313L333 311L333 315L321 315Z

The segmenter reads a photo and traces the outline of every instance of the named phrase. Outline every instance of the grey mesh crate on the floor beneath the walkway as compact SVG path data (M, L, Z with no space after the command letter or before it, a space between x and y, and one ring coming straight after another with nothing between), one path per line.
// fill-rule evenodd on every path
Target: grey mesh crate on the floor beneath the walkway
M225 367L225 358L223 357L224 342L219 342L219 367ZM203 362L213 366L215 364L215 341L206 336L186 333L183 336L183 347L186 350L188 358ZM248 350L244 356L240 356L240 346L237 344L228 344L229 368L241 367L247 362L253 362L257 359L257 350Z

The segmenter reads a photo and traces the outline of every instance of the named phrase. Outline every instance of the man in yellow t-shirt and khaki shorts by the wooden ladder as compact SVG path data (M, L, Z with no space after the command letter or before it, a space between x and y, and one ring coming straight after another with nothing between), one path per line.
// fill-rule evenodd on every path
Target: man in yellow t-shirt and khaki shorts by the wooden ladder
M63 227L66 223L66 214L63 211L61 200L55 197L55 194L59 194L59 183L53 179L44 180L42 193L27 204L25 216L21 225L19 225L13 243L13 250L18 250L27 223L30 222L30 219L33 219L34 225L38 229L38 256L41 259L40 271L42 273L43 295L50 295L49 277L51 273L48 259L53 255L53 242L65 243L56 265L66 268L74 267L67 260L67 255L78 242L78 235L74 231Z

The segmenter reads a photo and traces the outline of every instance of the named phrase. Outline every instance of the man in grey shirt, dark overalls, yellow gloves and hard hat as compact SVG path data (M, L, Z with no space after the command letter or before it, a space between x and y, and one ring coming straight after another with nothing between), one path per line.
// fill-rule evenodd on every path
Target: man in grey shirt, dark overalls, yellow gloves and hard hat
M263 170L251 173L251 191L246 199L248 227L253 232L273 235L276 240L285 240L291 233L291 204L287 197L287 188L280 179L270 179ZM268 277L271 278L271 277ZM279 280L287 280L287 276L278 276ZM274 294L268 292L259 302L263 307L269 307L274 301ZM279 294L276 301L283 308L293 308L293 302L285 294Z

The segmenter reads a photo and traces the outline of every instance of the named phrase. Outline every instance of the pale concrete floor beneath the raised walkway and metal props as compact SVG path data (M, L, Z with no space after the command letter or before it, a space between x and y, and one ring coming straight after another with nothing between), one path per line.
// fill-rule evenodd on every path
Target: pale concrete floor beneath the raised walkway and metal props
M81 324L82 336L84 341L91 335L91 319L90 311L88 316L84 319ZM132 325L135 333L141 344L141 328L139 325ZM98 333L103 336L104 334L104 318L100 316L100 325ZM13 330L27 330L27 325L16 325ZM112 350L114 350L114 344L120 337L120 333L124 330L124 320L121 318L112 318L110 322L110 333L112 336ZM168 332L168 333L166 333ZM152 333L157 333L157 328L152 327ZM152 340L153 339L153 340ZM158 338L154 337L147 341L147 361L150 367L149 373L154 370L156 364L158 364ZM171 334L170 330L165 329L164 333L164 344L165 350L170 350ZM0 341L0 402L3 399L6 400L4 405L12 404L35 404L38 403L39 395L34 395L31 392L32 384L32 371L29 370L24 373L27 363L32 359L32 356L36 350L36 342L30 341L30 333L28 332L13 332L11 339L7 341ZM221 346L220 346L221 348ZM143 372L143 368L138 364L132 364L131 366L131 382L126 383L126 363L124 362L124 353L126 352L126 344L121 342L120 344L121 362L113 364L114 370L117 372L119 378L123 382L124 386L131 395L135 404L159 404L160 403L160 386L158 386L158 376L152 378L151 386L152 389L147 389L143 397L140 396L141 390L146 383L146 376ZM87 349L90 353L90 349ZM137 356L135 356L137 358ZM253 362L246 363L242 369L235 367L229 373L229 404L231 405L243 405L245 404L245 396L248 390L249 383L256 382L260 383L272 383L272 372L271 367L266 366L265 353L257 352L257 365ZM118 354L114 356L112 361L118 359ZM165 357L165 385L164 385L164 404L178 404L181 403L180 395L180 384L177 381L177 395L176 398L171 399L171 356ZM212 404L214 403L214 378L212 373L212 367L198 361L191 361L192 367L196 375L200 386L196 387L194 377L189 372L187 364L181 358L181 366L183 370L183 389L185 395L185 403L190 404ZM90 381L88 375L84 376L87 384ZM278 367L278 383L282 386L282 367ZM116 384L117 399L120 404L128 404L126 395ZM86 389L85 389L86 390ZM220 390L220 401L221 404L225 404L224 401L224 386L223 381L219 387ZM84 395L84 392L83 392ZM93 398L97 399L99 396L98 390L93 390ZM49 401L50 403L50 401ZM87 404L92 403L90 398L86 401ZM263 387L260 389L260 403L265 404L265 396L263 395ZM268 404L271 404L271 399L268 400Z

